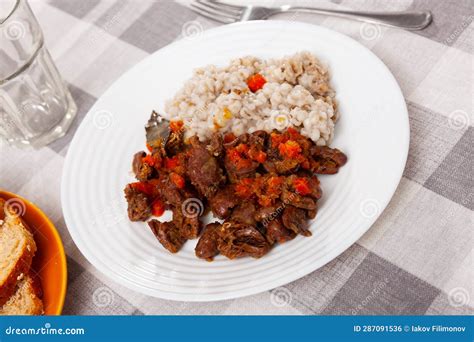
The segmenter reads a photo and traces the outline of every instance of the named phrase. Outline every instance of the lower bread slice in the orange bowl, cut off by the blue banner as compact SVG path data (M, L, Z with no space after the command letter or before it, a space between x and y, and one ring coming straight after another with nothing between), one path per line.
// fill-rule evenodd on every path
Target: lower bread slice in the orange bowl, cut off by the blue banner
M0 316L43 314L41 295L38 280L31 275L26 275L18 283L15 293L3 306L0 306Z

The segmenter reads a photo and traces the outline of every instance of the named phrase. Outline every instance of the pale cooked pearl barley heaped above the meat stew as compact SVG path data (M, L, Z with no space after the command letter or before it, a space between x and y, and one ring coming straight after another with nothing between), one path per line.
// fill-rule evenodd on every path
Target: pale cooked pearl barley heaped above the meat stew
M267 82L253 93L247 79L256 73ZM338 118L327 68L309 52L269 60L249 56L226 67L199 68L165 111L171 120L183 120L187 137L205 140L215 130L240 135L291 125L318 145L331 143Z

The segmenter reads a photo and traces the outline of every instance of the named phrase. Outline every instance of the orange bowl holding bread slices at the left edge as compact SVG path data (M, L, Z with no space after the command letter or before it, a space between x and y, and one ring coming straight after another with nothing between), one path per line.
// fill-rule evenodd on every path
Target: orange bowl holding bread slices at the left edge
M30 201L3 190L0 190L0 197L5 200L17 198L24 203L22 219L33 231L38 247L32 268L43 288L44 313L60 315L66 298L67 264L58 231L48 217Z

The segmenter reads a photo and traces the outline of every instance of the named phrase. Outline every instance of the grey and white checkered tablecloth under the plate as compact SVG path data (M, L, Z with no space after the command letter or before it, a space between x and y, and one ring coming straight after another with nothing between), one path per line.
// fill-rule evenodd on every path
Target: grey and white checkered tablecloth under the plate
M266 1L269 5L283 2ZM354 38L389 67L408 104L408 163L387 209L337 259L284 288L212 303L151 298L100 274L68 233L61 211L60 182L71 138L107 87L141 59L179 39L184 24L198 22L204 29L218 24L196 15L186 3L173 1L30 3L79 111L67 135L45 148L33 151L2 146L0 187L35 202L56 224L69 267L64 314L474 312L472 0L294 1L331 8L432 11L433 24L421 32L291 15L293 20Z

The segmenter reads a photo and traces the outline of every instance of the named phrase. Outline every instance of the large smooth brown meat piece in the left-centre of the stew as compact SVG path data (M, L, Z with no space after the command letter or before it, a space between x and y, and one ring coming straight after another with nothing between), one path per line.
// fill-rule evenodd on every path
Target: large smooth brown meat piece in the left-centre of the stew
M212 197L219 185L225 182L225 176L219 163L206 145L197 139L192 141L186 162L186 175L198 192L206 197Z

